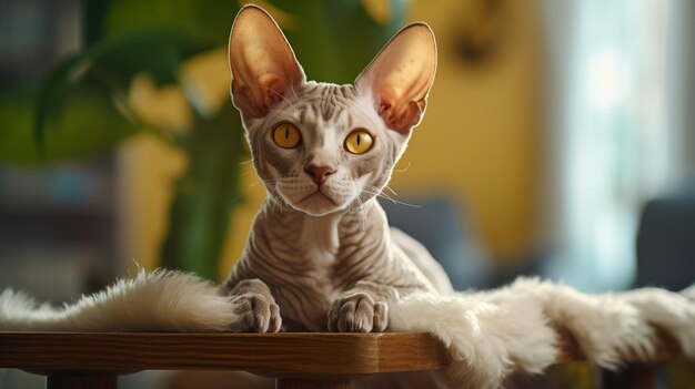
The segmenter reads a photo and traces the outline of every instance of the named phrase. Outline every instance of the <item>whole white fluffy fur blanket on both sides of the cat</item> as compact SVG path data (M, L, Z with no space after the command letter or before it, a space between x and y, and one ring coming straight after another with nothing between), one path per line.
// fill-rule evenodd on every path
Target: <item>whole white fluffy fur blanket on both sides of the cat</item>
M390 307L390 330L434 334L451 352L451 383L495 388L512 371L538 373L552 365L557 328L607 368L627 352L649 358L655 327L695 357L693 297L695 288L586 295L522 278L492 291L407 296ZM224 331L239 319L214 285L179 272L140 272L62 308L11 289L0 294L0 330Z

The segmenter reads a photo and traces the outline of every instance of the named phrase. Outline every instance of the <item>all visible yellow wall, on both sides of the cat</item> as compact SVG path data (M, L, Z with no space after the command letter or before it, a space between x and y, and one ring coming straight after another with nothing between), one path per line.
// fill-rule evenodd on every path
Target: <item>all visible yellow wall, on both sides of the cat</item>
M453 53L453 34L471 18L472 1L415 1L412 20L437 37L440 63L427 113L415 131L391 185L401 197L450 194L466 209L491 254L501 262L535 248L538 171L540 38L533 1L507 1L508 29L487 66L466 68ZM224 81L226 82L226 81ZM151 136L120 152L121 257L155 266L167 226L173 177L185 160ZM221 276L239 257L264 193L244 164L245 202L224 248Z

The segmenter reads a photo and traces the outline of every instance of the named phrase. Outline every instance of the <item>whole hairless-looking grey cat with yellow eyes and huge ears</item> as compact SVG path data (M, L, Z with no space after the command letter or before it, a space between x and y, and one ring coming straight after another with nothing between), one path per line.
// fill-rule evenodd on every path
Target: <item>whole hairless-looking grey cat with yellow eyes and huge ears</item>
M242 329L276 331L284 321L383 331L390 300L452 291L426 249L389 229L375 199L424 114L432 30L404 28L354 84L335 85L306 81L272 18L250 7L232 27L229 60L232 101L268 192L223 286L254 307Z

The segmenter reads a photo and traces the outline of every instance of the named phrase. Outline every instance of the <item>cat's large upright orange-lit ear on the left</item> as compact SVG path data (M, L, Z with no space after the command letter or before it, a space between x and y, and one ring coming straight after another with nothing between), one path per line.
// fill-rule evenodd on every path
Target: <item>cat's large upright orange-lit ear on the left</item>
M239 11L229 39L232 101L251 117L261 117L290 85L305 81L304 71L273 18L246 6Z

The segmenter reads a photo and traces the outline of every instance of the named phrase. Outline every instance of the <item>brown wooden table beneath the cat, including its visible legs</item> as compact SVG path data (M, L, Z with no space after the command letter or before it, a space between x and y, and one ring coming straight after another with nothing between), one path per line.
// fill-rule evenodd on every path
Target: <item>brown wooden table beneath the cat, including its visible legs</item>
M584 360L564 336L557 362ZM658 362L679 355L662 337ZM655 385L649 365L625 356L612 387ZM140 370L245 370L283 389L346 389L365 375L441 370L446 350L427 334L82 334L0 332L0 368L48 376L47 387L117 388Z

